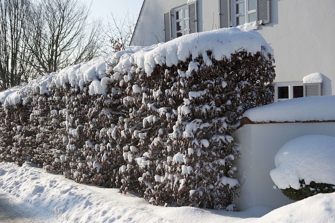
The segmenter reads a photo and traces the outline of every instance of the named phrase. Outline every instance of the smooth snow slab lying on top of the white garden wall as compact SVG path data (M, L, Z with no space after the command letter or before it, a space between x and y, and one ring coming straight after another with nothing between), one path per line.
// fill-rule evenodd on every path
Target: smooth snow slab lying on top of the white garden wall
M335 120L335 96L294 98L247 110L243 117L254 122Z

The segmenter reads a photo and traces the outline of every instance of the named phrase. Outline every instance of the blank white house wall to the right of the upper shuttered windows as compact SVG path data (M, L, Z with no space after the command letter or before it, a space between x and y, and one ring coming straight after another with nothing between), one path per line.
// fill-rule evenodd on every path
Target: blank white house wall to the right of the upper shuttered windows
M302 81L319 72L325 95L334 95L334 24L334 0L273 0L273 21L257 31L274 49L275 81Z

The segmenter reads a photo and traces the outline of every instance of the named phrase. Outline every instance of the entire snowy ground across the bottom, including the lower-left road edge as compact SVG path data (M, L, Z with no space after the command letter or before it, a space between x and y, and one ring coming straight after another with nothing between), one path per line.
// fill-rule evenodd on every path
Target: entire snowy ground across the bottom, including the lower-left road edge
M0 163L0 222L190 221L335 222L335 193L318 194L273 211L267 206L243 212L157 207L136 194L78 184L30 163L22 167Z

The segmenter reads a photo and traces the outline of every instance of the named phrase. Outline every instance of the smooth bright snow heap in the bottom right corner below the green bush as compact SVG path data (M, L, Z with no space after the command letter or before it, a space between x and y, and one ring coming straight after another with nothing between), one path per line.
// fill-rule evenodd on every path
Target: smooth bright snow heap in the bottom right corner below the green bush
M261 218L242 222L335 222L335 193L319 193L304 200L275 209Z

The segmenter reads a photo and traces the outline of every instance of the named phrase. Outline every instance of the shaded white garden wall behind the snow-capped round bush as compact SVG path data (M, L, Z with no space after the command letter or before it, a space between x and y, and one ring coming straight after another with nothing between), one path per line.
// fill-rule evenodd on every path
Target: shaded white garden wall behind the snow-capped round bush
M279 208L292 203L280 189L273 188L269 173L275 168L278 150L288 141L307 134L335 136L335 122L248 124L233 133L241 153L236 161L236 177L243 183L240 198L235 200L239 210L253 205Z

